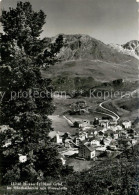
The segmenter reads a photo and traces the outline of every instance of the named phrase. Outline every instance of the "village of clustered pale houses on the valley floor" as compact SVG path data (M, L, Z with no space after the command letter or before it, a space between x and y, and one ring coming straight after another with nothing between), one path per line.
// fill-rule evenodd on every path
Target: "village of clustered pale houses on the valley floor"
M78 102L76 105L71 105L72 111L88 112L85 104L85 102ZM139 134L134 130L132 122L128 120L94 117L92 120L71 121L66 116L64 118L71 128L76 128L76 131L74 133L57 131L51 137L63 164L66 164L67 158L86 161L114 158L133 147L139 140Z

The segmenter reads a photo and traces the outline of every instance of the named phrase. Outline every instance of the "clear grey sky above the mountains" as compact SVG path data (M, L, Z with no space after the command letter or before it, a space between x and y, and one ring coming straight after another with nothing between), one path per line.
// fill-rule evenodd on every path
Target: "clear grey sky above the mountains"
M104 43L117 44L138 39L136 0L28 1L34 10L42 9L47 15L42 37L87 34ZM2 0L1 8L15 7L16 3L17 0Z

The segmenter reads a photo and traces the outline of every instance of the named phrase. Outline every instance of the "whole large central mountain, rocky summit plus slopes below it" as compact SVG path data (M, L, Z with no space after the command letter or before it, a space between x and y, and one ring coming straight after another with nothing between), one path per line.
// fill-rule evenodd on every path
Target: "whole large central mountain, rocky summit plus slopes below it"
M45 78L52 78L56 90L87 89L116 79L138 80L139 61L123 53L123 46L117 46L121 48L118 50L88 35L63 35L63 38L59 63L42 70Z

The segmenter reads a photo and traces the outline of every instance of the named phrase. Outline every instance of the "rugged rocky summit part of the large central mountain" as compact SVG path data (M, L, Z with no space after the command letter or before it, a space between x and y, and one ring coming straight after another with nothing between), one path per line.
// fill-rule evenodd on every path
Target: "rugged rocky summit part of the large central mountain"
M121 52L88 35L63 35L63 38L64 46L58 55L62 61L92 59L121 62L121 60L129 60L128 55L123 55Z

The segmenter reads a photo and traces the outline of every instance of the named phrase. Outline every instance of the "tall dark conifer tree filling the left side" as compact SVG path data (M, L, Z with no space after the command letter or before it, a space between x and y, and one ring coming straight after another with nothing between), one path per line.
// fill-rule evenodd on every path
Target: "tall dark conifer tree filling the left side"
M52 130L48 115L54 107L50 79L41 75L41 66L53 65L62 47L62 36L51 43L40 39L46 15L33 11L29 2L3 10L1 34L0 167L2 183L38 181L58 177L62 168L57 151L49 140ZM6 144L8 140L8 143Z

